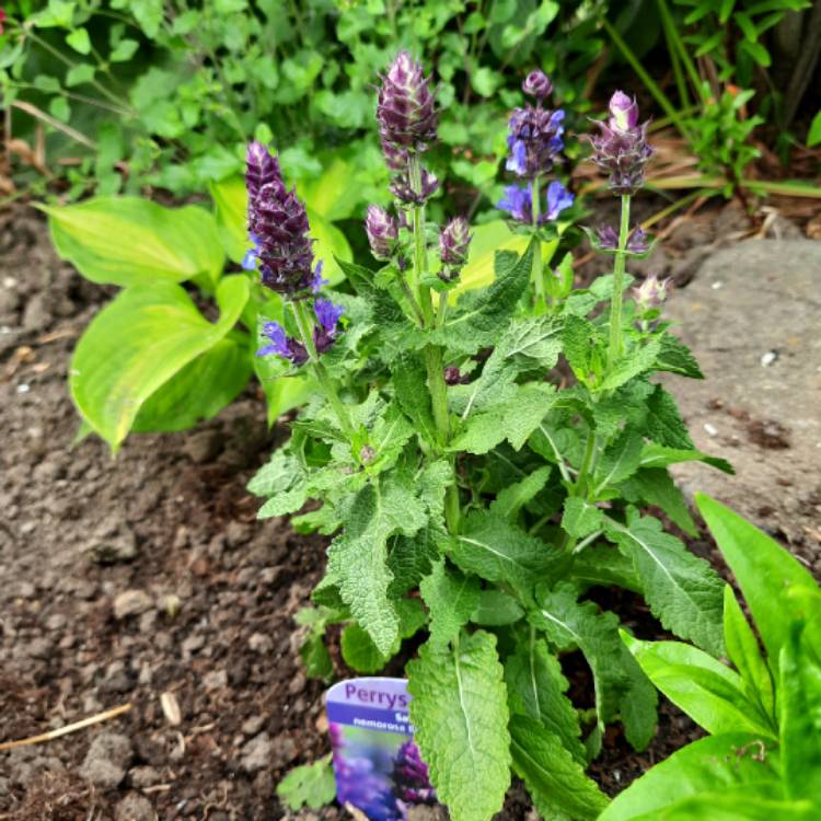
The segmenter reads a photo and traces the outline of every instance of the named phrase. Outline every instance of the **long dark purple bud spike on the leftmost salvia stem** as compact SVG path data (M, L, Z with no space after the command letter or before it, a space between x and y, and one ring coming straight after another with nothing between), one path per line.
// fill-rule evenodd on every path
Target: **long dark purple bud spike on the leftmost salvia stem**
M253 266L258 261L264 286L299 298L314 284L305 207L292 190L286 189L279 163L259 142L248 147L245 182L248 234L255 248L243 263Z

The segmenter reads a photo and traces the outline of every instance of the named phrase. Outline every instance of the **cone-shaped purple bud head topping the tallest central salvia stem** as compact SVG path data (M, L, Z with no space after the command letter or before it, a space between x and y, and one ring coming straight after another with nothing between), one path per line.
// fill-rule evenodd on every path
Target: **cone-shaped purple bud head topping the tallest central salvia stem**
M377 120L383 144L425 151L436 140L437 117L421 65L407 51L400 51L379 90Z

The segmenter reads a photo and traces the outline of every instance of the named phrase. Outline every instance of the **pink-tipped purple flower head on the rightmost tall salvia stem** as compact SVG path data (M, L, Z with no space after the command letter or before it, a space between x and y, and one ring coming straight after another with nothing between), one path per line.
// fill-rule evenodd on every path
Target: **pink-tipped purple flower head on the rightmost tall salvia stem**
M610 174L614 194L633 195L645 180L645 165L652 155L647 143L648 123L638 125L638 105L624 92L610 99L608 122L594 120L600 134L589 137L593 147L592 161Z

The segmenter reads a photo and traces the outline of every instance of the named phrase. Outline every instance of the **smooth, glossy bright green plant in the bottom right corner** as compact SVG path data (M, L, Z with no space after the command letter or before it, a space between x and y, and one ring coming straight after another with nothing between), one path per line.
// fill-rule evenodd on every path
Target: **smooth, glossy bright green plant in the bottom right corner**
M687 644L624 636L654 684L710 735L652 767L601 821L810 821L821 814L821 590L737 513L708 497L697 504L755 632L728 586L724 629L732 667Z

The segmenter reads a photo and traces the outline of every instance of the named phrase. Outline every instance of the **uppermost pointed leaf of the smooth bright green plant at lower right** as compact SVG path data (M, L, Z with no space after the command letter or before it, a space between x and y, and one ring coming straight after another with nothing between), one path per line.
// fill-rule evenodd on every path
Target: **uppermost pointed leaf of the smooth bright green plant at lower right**
M793 623L806 616L806 602L790 597L790 591L806 589L812 595L818 585L784 547L738 513L704 494L696 494L695 502L736 576L774 664Z

